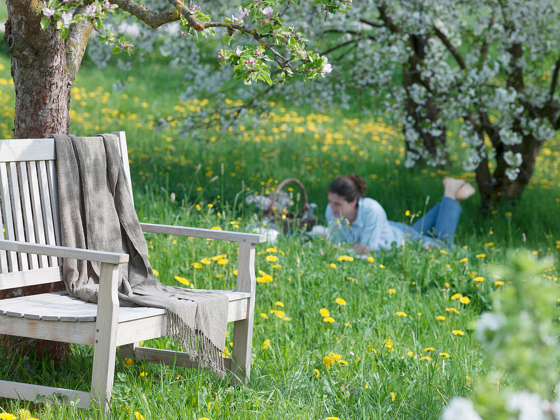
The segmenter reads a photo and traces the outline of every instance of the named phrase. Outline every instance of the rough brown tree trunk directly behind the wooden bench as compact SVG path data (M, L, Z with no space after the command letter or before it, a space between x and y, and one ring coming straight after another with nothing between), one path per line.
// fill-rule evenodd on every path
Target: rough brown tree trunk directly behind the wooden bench
M53 25L41 30L39 2L8 0L4 40L11 57L16 93L14 138L45 138L68 134L70 89L85 51L91 24L73 25L67 40ZM41 4L43 6L43 4ZM68 62L68 65L67 65ZM54 284L4 290L0 298L60 290ZM63 288L64 286L62 286ZM24 354L36 351L54 360L66 358L68 343L3 336L0 348Z

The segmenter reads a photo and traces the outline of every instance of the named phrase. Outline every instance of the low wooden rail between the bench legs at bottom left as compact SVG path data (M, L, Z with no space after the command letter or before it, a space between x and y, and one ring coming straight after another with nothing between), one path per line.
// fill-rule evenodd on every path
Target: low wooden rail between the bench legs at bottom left
M11 381L0 381L0 397L3 398L22 398L27 401L34 401L38 395L45 395L46 403L59 404L59 400L52 400L49 395L59 394L63 397L65 404L75 402L78 408L88 408L91 404L90 393L74 391L66 388L54 388L52 386L40 386L31 384L21 384Z

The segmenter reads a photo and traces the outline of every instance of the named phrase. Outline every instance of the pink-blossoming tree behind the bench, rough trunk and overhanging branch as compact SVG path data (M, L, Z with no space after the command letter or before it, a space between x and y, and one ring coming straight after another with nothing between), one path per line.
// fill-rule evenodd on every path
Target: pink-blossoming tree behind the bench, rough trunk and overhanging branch
M345 4L339 0L314 2L332 12ZM236 35L247 36L252 44L223 48L218 56L221 64L231 65L234 77L245 84L282 83L296 74L307 82L324 76L330 72L328 60L306 51L305 35L284 23L283 15L290 5L290 1L247 0L239 8L239 17L223 16L213 21L208 11L183 0L162 2L152 9L133 0L7 0L4 39L16 92L14 136L43 138L51 133L68 133L71 87L90 35L98 32L99 40L113 45L115 53L133 48L104 23L108 15L118 11L135 16L152 29L179 21L181 34L197 40L216 29L223 30L226 45ZM269 63L274 62L281 71L273 79ZM12 292L21 290L8 291ZM11 347L11 339L4 339L3 346ZM68 347L57 346L43 348L60 358Z

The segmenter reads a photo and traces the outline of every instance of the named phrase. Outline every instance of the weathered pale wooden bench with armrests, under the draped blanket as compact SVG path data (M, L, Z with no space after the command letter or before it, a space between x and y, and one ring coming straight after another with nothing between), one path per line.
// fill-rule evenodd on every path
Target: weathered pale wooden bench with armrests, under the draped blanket
M119 137L130 183L128 152L123 131ZM97 139L99 140L99 138ZM53 292L0 300L0 334L42 338L94 346L91 390L16 383L0 380L0 397L34 400L37 395L60 394L79 408L101 404L108 412L115 352L120 357L176 366L198 366L185 353L138 346L139 341L165 336L166 315L158 308L119 308L119 264L127 254L60 246L57 177L53 139L0 140L0 290L62 280L62 258L101 262L99 303L88 303ZM132 192L132 185L129 185ZM229 298L228 322L234 322L232 357L225 358L232 381L247 383L255 304L255 244L265 235L142 223L144 232L164 233L239 243L236 290L221 291ZM2 229L3 227L3 229Z

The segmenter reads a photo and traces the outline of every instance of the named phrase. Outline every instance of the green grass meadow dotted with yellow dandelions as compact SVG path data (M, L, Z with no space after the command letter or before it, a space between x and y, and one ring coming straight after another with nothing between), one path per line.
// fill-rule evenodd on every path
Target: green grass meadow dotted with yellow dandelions
M72 89L72 131L126 131L142 221L241 231L260 215L245 204L246 195L270 194L279 181L297 177L319 205L321 223L329 182L356 172L389 219L408 222L437 202L443 177L474 182L474 174L459 164L405 169L398 126L382 112L333 107L318 112L270 103L269 114L249 112L238 130L214 124L193 138L180 122L210 108L213 99L180 101L189 81L179 69L137 62L132 68L82 67ZM114 91L117 80L121 88ZM223 105L241 105L236 101L232 96ZM0 138L12 136L13 102L10 60L2 50ZM209 113L209 122L213 119ZM111 418L439 418L450 398L471 395L487 369L473 320L503 284L491 275L491 266L505 261L507 249L519 247L539 257L553 254L558 261L559 152L557 138L545 145L531 184L515 205L481 217L477 197L465 201L458 246L450 251L407 244L353 259L324 240L300 236L259 246L249 386L229 386L197 370L119 365ZM294 194L297 201L297 190ZM236 256L228 244L157 235L147 240L152 266L165 284L232 287ZM225 265L212 259L222 254L229 261ZM547 272L550 281L558 280L559 267L556 262ZM146 345L178 346L166 339ZM62 365L32 355L4 359L0 377L85 390L91 370L87 355L89 348L76 346ZM24 417L27 412L20 410L40 419L94 414L0 399L0 412Z

